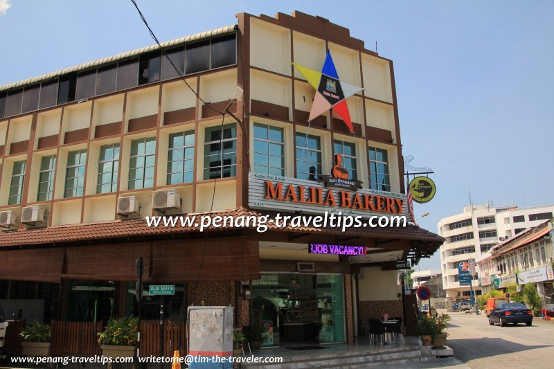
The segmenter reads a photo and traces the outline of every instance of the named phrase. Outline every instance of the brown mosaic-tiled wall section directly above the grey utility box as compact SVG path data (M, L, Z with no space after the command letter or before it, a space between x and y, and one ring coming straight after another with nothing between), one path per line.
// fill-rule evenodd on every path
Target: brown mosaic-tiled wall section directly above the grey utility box
M188 284L188 305L235 305L235 282L198 282Z

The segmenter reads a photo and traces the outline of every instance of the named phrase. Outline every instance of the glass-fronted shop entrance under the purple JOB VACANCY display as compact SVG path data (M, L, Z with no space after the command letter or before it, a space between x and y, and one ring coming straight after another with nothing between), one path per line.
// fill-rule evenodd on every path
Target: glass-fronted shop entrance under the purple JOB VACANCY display
M272 345L344 342L343 276L261 273L253 281L251 322Z

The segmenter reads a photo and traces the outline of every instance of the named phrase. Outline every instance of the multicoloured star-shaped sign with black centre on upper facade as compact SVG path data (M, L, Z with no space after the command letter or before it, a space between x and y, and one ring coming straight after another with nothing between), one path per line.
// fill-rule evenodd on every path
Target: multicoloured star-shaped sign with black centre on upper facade
M327 51L327 56L325 57L325 63L323 64L321 72L314 71L314 69L306 68L296 63L292 64L302 73L307 82L316 89L314 103L312 104L312 110L310 111L310 118L308 118L308 120L312 120L325 111L333 109L339 114L342 120L344 120L350 132L354 133L346 99L363 89L339 79L339 74L334 67L330 51Z

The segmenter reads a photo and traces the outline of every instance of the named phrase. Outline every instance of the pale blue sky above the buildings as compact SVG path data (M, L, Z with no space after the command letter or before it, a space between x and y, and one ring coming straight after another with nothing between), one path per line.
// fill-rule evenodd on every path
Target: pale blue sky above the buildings
M161 42L299 10L393 60L402 152L437 186L418 224L470 204L554 204L554 1L146 1ZM130 0L0 0L0 84L153 44ZM440 269L438 252L416 270Z

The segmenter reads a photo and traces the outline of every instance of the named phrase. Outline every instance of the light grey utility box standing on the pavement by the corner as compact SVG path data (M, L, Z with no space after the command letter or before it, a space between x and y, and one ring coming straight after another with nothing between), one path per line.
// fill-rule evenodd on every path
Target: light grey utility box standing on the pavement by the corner
M195 357L233 356L233 307L188 307L188 352ZM232 368L233 363L190 363L189 368Z

